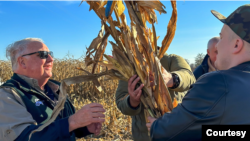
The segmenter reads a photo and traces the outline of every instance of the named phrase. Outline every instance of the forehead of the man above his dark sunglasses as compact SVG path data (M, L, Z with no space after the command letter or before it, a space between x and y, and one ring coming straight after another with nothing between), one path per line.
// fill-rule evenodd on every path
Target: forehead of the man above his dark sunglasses
M28 43L25 53L32 53L37 51L49 51L49 48L44 43L33 41Z

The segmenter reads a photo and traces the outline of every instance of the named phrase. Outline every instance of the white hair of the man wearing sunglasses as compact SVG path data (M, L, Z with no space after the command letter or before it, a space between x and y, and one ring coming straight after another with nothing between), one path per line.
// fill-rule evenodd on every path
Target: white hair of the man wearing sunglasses
M6 57L11 60L13 71L17 69L17 58L23 55L23 53L27 49L28 44L31 42L44 43L40 38L25 38L7 46Z

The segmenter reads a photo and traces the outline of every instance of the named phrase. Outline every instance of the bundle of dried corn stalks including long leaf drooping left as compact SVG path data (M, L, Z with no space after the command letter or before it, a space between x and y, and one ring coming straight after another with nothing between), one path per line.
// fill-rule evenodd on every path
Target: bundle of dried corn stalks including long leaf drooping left
M98 36L87 48L85 64L86 66L93 65L92 71L88 72L83 68L77 68L85 71L88 75L62 81L59 104L54 109L51 120L34 132L49 125L59 114L66 99L65 87L67 85L93 81L96 89L101 91L98 78L104 75L110 76L110 79L128 81L129 78L137 74L141 78L140 83L144 84L141 102L145 107L145 116L151 115L158 118L171 111L177 105L177 101L176 99L175 101L171 100L162 76L164 68L159 60L169 48L175 35L176 0L171 0L172 16L159 51L157 46L159 37L156 36L155 31L155 23L157 23L155 10L159 13L166 13L165 6L160 0L124 0L131 21L130 26L127 25L124 14L123 0L82 0L82 2L84 1L90 5L89 10L94 10L102 22ZM113 12L114 18L111 16ZM152 25L152 28L147 27L147 22ZM109 42L113 48L113 57L104 54L110 35L115 41ZM103 57L107 60L104 60ZM106 71L100 73L100 65L105 66ZM150 86L149 75L154 78L153 87Z

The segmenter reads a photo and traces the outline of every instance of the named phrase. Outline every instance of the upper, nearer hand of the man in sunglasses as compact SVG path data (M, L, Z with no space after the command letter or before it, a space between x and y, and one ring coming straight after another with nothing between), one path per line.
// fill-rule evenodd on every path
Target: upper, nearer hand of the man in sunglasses
M103 106L98 103L85 105L74 115L69 117L69 132L90 125L92 123L103 123L105 121Z

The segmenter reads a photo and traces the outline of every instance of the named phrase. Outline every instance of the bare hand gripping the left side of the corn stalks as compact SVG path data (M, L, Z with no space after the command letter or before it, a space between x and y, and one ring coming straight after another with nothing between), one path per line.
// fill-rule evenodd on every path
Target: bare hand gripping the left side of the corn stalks
M135 90L136 84L140 81L140 77L136 77L137 75L134 75L128 81L128 93L130 96L129 102L132 107L137 107L140 104L140 97L142 93L142 88L144 86L143 84L141 84L141 86Z

